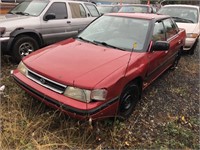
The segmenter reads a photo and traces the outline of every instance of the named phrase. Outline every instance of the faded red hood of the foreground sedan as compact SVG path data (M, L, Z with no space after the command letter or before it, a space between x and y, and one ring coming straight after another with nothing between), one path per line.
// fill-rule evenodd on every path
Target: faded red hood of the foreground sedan
M92 89L113 72L124 71L130 54L70 39L36 51L23 61L29 69L51 80Z

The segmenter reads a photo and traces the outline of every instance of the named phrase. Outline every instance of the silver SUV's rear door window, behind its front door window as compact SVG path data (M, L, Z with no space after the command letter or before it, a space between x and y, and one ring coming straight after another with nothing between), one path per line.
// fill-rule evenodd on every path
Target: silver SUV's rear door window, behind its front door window
M82 4L79 3L69 3L69 7L72 12L72 18L86 18L86 11Z

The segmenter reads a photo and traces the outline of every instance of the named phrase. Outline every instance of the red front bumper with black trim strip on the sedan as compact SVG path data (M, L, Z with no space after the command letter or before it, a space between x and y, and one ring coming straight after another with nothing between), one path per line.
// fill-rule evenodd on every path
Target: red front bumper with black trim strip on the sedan
M86 120L88 118L95 120L105 117L113 117L116 115L119 102L118 97L104 102L101 105L97 104L95 106L94 103L97 102L94 102L92 105L86 105L86 103L70 99L62 94L58 94L40 86L19 73L17 70L13 72L13 77L17 84L30 95L45 104L66 113L70 117L80 120Z

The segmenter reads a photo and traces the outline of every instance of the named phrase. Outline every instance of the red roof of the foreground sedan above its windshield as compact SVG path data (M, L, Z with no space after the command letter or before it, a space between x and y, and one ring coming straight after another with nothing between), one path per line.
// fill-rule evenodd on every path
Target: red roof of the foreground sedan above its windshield
M160 20L164 18L169 18L168 15L160 15L160 14L148 14L148 13L109 13L106 14L109 16L121 16L121 17L130 17L130 18L138 18L138 19L147 19L147 20Z

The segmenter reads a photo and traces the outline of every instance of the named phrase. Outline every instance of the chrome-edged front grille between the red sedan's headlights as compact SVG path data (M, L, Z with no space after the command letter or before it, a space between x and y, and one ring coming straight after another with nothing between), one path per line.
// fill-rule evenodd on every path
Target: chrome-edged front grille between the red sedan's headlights
M57 93L64 93L65 89L66 89L66 85L60 84L58 82L55 82L53 80L50 80L44 76L41 76L31 70L28 70L28 74L27 77L31 80L33 80L34 82L52 90L55 91Z

